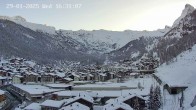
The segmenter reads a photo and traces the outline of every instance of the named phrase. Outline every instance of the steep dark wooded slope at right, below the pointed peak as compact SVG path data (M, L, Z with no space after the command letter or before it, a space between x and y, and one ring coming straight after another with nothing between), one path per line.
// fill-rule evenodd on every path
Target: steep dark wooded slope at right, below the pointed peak
M185 6L185 8L187 8ZM196 10L188 13L180 23L162 37L152 52L157 53L160 63L169 62L196 43Z

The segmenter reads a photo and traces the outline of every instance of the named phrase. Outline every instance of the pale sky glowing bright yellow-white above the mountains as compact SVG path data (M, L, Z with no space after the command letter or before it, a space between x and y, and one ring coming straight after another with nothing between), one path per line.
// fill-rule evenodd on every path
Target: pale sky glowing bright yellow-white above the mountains
M195 0L0 0L0 15L64 30L152 31L172 26L186 4L196 7Z

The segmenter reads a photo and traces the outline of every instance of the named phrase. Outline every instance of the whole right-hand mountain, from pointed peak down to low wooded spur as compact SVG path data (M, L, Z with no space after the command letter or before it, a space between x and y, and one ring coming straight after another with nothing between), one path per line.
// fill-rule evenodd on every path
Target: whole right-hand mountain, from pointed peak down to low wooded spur
M196 43L196 10L186 5L172 28L162 37L141 37L130 41L122 48L108 54L111 60L122 60L143 56L153 56L160 59L160 63L174 60L177 55L191 49ZM141 43L142 42L142 43Z

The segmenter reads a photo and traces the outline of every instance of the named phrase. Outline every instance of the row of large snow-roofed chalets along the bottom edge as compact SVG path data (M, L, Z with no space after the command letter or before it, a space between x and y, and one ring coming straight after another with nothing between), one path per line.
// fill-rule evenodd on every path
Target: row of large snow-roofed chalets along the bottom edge
M67 96L70 91L65 92ZM143 110L147 108L146 97L137 94L127 94L111 98L102 103L103 96L94 92L78 92L73 94L70 92L69 97L62 97L62 94L57 95L59 92L53 92L50 99L43 102L33 102L25 107L23 110ZM138 105L138 106L136 106Z

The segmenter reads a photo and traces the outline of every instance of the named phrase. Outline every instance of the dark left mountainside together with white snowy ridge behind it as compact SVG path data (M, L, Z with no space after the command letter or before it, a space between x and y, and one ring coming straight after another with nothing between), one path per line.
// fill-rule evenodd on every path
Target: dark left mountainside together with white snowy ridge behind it
M65 61L103 62L104 53L117 50L141 36L163 36L170 28L156 31L70 31L27 22L20 16L0 16L1 55L19 56L40 63Z

